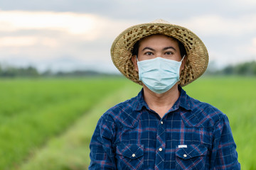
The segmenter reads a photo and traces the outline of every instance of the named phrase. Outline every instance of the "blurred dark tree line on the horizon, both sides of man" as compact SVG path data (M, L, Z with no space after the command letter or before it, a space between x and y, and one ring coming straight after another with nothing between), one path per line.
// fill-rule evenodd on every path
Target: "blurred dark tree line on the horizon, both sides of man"
M236 65L228 65L220 70L206 71L208 75L240 75L240 76L256 76L256 62L244 62ZM101 72L95 72L90 70L75 70L71 72L46 72L40 73L36 67L18 68L11 66L1 67L0 64L0 77L85 77L85 76L107 76L111 74L105 74Z

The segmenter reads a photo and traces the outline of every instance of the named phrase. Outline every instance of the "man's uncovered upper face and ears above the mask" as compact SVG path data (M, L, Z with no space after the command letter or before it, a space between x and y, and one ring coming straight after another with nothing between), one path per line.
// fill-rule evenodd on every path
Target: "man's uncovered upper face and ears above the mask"
M163 57L169 60L180 62L182 57L178 47L178 42L166 35L151 35L139 42L138 60L150 60L156 57ZM136 56L132 57L135 70L138 72ZM181 70L186 60L183 60ZM180 70L180 72L181 72Z

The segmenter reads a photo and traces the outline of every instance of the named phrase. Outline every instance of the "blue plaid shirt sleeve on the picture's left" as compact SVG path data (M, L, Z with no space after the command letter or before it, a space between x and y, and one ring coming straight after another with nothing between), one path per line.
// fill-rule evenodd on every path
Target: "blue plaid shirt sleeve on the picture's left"
M103 117L97 123L90 142L90 166L92 169L116 169L112 140L114 123Z

